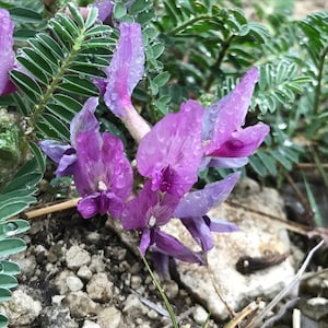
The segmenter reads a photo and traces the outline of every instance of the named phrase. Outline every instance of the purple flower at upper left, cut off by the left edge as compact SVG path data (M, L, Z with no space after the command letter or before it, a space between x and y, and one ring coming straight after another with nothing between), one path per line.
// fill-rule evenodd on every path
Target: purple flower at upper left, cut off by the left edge
M9 80L9 73L14 68L15 52L13 50L14 24L5 9L0 9L0 96L16 91Z

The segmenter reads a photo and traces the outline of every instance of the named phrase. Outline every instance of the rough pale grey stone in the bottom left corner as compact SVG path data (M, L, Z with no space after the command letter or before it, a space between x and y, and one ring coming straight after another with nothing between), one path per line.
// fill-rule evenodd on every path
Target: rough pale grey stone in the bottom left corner
M32 325L40 311L40 302L33 300L21 290L14 291L8 302L0 304L0 312L5 313L12 326Z

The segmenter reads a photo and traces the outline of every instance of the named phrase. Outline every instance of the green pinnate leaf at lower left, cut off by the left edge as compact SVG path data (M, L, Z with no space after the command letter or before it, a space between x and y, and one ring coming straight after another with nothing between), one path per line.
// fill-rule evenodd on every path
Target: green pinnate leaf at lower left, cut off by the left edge
M31 143L34 157L26 162L0 194L0 302L11 297L11 289L17 285L20 266L8 257L26 248L19 234L30 229L30 223L16 216L36 202L37 185L45 171L45 156ZM7 327L5 314L0 314L0 327Z

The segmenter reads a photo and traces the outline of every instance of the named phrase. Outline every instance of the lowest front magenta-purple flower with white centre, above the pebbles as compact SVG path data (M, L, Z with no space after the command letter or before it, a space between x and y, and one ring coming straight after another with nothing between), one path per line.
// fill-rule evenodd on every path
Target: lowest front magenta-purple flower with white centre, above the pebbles
M180 197L152 190L147 181L139 195L127 202L121 222L126 230L141 231L140 251L145 254L150 247L162 255L173 256L188 262L203 263L200 253L192 251L175 237L161 231L173 216Z

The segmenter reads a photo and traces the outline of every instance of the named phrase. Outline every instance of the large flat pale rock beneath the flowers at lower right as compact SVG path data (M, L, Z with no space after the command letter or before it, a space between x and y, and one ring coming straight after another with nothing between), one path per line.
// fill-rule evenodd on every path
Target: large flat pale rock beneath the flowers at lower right
M283 200L274 189L261 189L249 179L242 181L237 189L236 195L239 196L231 198L234 202L255 211L284 218ZM290 283L295 273L290 258L249 276L236 270L235 265L242 256L260 257L266 255L266 251L284 254L290 250L284 226L248 209L225 202L209 212L210 216L233 221L241 229L234 233L213 233L215 246L208 253L209 269L186 262L177 265L181 283L203 301L208 312L221 319L226 318L229 313L216 294L209 270L220 293L235 311L259 296L274 297ZM186 229L179 224L179 220L172 220L165 231L189 247L199 249Z

